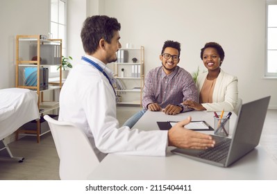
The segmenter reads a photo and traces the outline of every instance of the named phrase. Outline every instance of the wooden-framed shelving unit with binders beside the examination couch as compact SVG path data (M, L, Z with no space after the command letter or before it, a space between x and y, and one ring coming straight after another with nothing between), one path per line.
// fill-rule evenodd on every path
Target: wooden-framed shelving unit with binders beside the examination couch
M61 63L62 39L45 39L41 35L17 35L15 87L32 89L37 92L37 108L40 109L41 117L59 107L58 102L44 101L44 92L51 90L53 92L60 91L62 87L62 68L60 68L58 84L55 82L52 85L46 78L48 77L47 69L49 74L51 66L59 66ZM35 75L32 77L34 79L32 84L26 81L26 72L30 69ZM43 106L46 103L47 106ZM53 103L53 106L51 106L51 103ZM16 139L18 139L19 134L31 135L36 136L37 143L40 143L40 136L49 132L49 130L42 132L40 119L35 123L35 125L27 125L27 129L20 127L17 130Z

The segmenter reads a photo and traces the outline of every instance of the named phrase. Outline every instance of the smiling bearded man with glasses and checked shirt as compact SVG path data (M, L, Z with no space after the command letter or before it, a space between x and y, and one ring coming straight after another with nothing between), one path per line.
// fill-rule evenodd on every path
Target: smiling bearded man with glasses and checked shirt
M184 99L198 102L197 89L192 76L178 67L181 44L167 40L162 46L160 61L162 66L149 71L144 84L142 111L128 119L124 125L130 128L137 123L147 109L175 115L192 109L183 105Z

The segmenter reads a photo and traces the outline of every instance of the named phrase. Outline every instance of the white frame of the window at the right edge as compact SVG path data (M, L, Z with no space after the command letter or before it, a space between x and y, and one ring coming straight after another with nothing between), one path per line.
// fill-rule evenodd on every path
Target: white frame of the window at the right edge
M267 56L268 56L268 52L272 51L272 49L268 49L268 29L269 29L269 26L268 26L268 17L269 17L268 8L269 8L270 5L276 5L277 6L277 0L267 0L267 2L266 2L265 78L277 78L277 72L276 73L272 73L272 72L268 71L269 64L268 64L268 58L267 58ZM272 27L270 27L270 28L272 28ZM277 28L277 26L276 26L276 28ZM277 48L274 49L274 51L275 50L277 51Z

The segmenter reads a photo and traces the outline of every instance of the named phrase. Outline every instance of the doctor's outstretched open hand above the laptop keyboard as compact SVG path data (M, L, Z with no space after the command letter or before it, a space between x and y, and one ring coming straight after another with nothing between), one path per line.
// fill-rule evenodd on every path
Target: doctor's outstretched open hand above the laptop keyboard
M191 149L206 149L215 146L215 141L212 136L194 132L184 127L190 123L192 118L176 123L174 127L168 131L168 144L177 148L191 148Z

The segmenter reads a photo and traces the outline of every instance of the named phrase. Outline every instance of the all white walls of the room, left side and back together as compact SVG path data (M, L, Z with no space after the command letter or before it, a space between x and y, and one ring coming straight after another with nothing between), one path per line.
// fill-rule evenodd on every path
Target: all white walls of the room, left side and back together
M160 65L163 42L182 44L180 66L203 68L205 42L226 51L222 69L239 78L245 102L271 95L277 109L277 80L263 79L265 69L265 0L69 0L68 55L83 55L80 33L85 17L105 14L121 23L121 43L145 46L145 74ZM48 0L0 1L0 89L15 87L15 35L49 32Z

